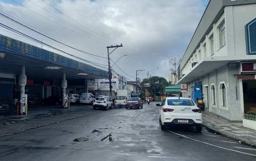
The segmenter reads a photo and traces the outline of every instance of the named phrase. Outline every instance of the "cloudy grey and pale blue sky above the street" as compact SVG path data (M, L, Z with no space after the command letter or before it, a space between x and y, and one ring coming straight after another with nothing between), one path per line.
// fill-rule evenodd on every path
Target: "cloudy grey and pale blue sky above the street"
M8 17L11 16L19 22L22 21L21 23L27 23L34 29L41 30L39 32L43 31L55 37L54 39L58 38L97 56L107 57L107 46L122 43L123 47L111 53L110 58L115 62L120 56L128 54L117 62L117 66L128 75L113 66L117 73L127 77L128 80L135 80L136 70L145 69L145 72L141 72L138 77L145 78L148 71L152 76L164 77L167 81L170 69L174 68L169 60L175 57L178 62L182 58L209 2L209 0L44 1L0 0L0 11L5 15L8 14ZM0 17L0 21L75 56L101 64L98 68L107 68L105 58L93 58L63 46L3 17ZM5 36L41 47L41 44L9 32L0 27L0 33ZM54 51L45 46L43 48ZM66 56L64 53L60 54Z

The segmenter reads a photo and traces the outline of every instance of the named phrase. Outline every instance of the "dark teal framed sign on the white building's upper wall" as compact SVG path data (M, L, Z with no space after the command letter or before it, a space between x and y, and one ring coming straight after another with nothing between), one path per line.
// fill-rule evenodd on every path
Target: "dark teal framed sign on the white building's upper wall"
M245 25L246 52L256 54L256 18Z

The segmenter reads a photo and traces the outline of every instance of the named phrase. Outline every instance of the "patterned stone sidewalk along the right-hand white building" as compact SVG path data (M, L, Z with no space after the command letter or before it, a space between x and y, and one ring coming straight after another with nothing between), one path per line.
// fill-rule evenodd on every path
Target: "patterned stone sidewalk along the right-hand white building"
M203 112L203 126L226 137L256 146L256 131L243 127L242 122L229 122L209 112Z

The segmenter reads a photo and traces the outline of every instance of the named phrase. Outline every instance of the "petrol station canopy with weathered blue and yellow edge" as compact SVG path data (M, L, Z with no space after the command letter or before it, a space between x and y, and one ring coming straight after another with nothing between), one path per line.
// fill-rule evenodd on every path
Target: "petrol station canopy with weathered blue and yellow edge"
M0 34L0 73L19 75L25 66L27 77L44 79L103 79L108 72L60 54L3 36ZM46 67L60 67L59 69ZM77 75L79 74L79 75Z

